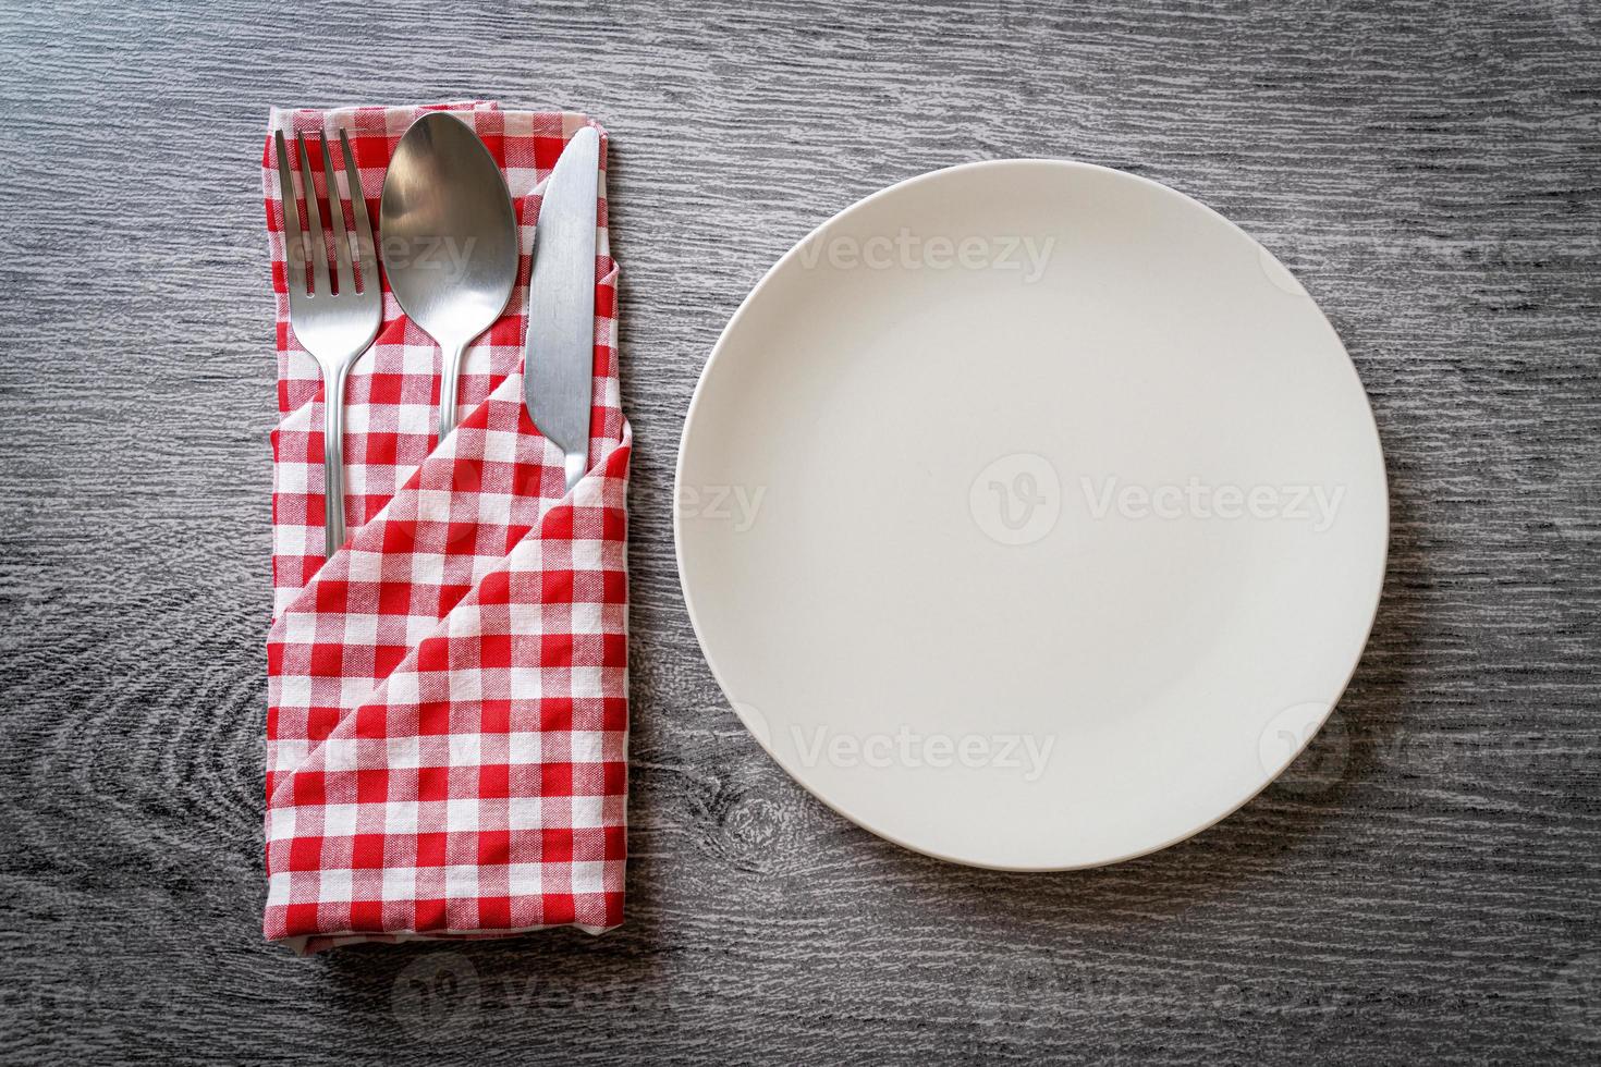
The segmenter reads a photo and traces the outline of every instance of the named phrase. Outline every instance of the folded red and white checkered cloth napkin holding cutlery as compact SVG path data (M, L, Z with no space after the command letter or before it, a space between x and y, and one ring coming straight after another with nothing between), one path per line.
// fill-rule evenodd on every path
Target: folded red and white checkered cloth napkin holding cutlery
M274 112L263 158L282 414L264 926L298 952L565 925L599 933L623 920L629 429L604 198L591 470L572 493L560 450L522 403L540 182L589 120L450 107L506 174L519 283L467 352L464 414L443 442L434 440L439 347L386 286L383 330L347 387L354 533L328 560L322 382L290 328L272 131L347 131L376 224L389 155L421 109ZM315 184L323 194L320 173Z

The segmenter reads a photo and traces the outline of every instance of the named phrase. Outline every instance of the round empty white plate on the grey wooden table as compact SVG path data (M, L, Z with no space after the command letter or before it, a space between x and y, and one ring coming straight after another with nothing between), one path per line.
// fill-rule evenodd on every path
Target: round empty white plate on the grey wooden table
M1209 208L1045 160L842 211L740 307L679 456L684 595L772 757L945 859L1210 825L1345 688L1388 531L1362 386Z

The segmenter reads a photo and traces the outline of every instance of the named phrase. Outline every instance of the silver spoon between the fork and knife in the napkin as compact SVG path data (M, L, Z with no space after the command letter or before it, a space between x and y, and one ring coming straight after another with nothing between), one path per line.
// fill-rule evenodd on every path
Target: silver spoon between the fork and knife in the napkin
M501 317L517 282L511 194L472 128L448 112L429 112L407 128L389 160L378 219L389 290L445 355L445 440L456 426L461 355Z

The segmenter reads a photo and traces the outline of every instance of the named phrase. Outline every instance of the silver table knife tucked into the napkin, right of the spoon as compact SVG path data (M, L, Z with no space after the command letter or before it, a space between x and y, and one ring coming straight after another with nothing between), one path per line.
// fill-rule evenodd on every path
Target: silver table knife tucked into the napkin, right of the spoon
M568 493L589 466L599 170L600 134L584 126L544 184L528 282L522 400L540 432L567 454Z

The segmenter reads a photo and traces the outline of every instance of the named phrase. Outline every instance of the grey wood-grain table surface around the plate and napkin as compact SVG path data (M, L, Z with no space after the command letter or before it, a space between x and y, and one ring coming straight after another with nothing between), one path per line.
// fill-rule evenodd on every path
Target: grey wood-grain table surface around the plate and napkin
M1601 1056L1601 6L1593 0L226 0L0 11L0 1059L612 1064ZM448 13L447 13L448 11ZM632 491L628 923L263 944L271 104L613 133ZM794 785L672 561L696 374L889 182L1170 184L1321 302L1390 571L1334 725L1111 869L943 865Z

